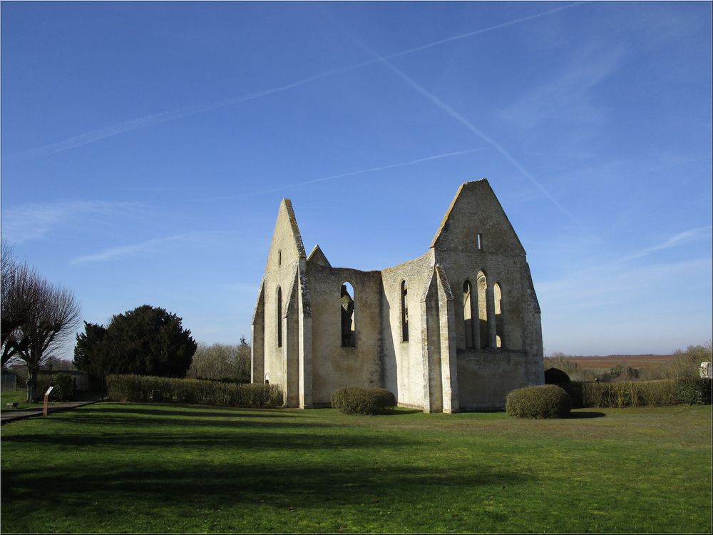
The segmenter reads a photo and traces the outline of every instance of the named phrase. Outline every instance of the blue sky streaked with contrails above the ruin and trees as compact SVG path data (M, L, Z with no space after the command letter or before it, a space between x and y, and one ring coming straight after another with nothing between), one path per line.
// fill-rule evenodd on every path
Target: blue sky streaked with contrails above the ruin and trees
M545 352L712 331L711 4L1 4L2 235L83 317L250 337L279 200L381 269L488 178ZM71 357L71 347L66 355Z

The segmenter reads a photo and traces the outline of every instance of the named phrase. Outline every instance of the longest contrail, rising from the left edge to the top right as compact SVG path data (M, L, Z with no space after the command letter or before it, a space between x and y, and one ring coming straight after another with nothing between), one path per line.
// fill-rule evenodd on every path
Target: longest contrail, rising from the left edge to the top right
M506 26L512 26L513 24L520 24L525 21L531 21L533 19L539 19L543 16L548 16L550 14L556 13L558 11L563 11L565 9L570 9L571 7L578 6L580 4L568 4L566 6L557 7L555 9L550 9L548 11L543 11L542 13L525 16L520 19L515 19L513 21L503 22L501 24L496 24L496 26L488 26L488 28L483 28L474 31L468 31L465 34L458 34L452 37L446 37L445 39L439 39L438 41L433 41L428 44L421 46L416 46L413 49L407 49L401 52L396 52L394 54L389 54L388 56L381 56L380 58L372 58L366 61L360 61L359 63L352 63L352 65L347 65L344 67L334 68L329 71L324 71L322 73L317 73L312 76L307 76L307 78L301 78L292 83L287 83L284 86L276 86L269 89L264 89L262 91L256 91L255 93L247 93L242 96L237 96L233 98L225 98L220 101L212 101L210 103L204 104L194 104L193 106L185 106L183 108L177 108L175 110L163 111L160 113L153 113L151 115L131 119L130 121L124 121L123 123L117 123L113 126L107 126L106 128L99 128L97 130L89 131L78 136L73 136L67 138L63 141L58 141L56 143L50 143L39 148L32 148L27 151L21 151L10 155L11 158L18 158L24 156L48 156L53 153L58 153L62 151L68 151L72 148L81 147L87 145L88 143L94 143L95 141L101 141L106 138L111 138L112 136L118 136L119 134L139 130L140 128L148 128L149 126L155 126L161 123L166 123L168 121L175 121L176 119L186 118L190 116L197 115L198 113L205 113L207 111L212 111L217 108L223 108L225 106L232 106L233 104L252 101L255 98L262 98L264 96L269 96L274 93L280 93L282 91L288 91L289 89L304 86L307 83L312 83L317 80L322 80L323 78L328 78L330 76L335 76L337 74L347 73L349 71L355 71L358 68L372 65L378 63L384 59L396 58L399 56L406 56L406 54L413 54L414 52L419 52L421 50L430 49L434 46L440 46L442 44L450 43L452 41L458 41L460 39L466 39L468 37L476 36L478 34L484 34L488 31L493 31L497 29L504 28Z

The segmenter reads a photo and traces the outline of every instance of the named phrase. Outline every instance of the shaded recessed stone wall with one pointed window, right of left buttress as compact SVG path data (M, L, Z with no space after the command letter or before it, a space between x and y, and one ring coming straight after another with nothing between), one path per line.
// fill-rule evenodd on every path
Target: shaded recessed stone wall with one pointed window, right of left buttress
M312 403L347 386L381 386L381 274L307 263L312 299ZM356 343L342 347L341 289L354 287Z

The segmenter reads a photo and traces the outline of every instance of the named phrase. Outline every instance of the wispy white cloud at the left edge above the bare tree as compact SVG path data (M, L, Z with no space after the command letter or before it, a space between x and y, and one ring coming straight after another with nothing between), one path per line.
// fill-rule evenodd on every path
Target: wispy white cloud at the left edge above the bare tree
M135 210L137 203L107 202L103 200L59 201L56 203L26 203L7 208L3 212L3 235L11 243L43 238L53 228L76 223L89 216L113 217Z

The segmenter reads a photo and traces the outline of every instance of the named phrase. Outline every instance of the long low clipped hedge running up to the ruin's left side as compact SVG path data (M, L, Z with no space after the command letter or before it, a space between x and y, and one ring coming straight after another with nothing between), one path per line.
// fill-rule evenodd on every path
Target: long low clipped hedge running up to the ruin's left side
M277 384L230 384L205 379L109 375L106 386L107 397L117 402L282 407L282 389Z

